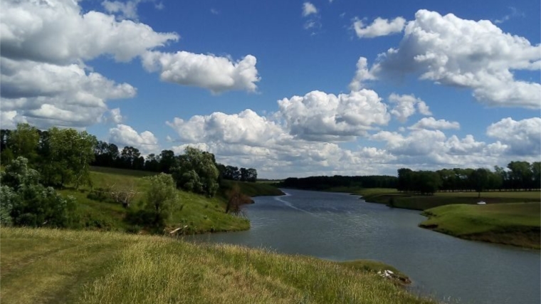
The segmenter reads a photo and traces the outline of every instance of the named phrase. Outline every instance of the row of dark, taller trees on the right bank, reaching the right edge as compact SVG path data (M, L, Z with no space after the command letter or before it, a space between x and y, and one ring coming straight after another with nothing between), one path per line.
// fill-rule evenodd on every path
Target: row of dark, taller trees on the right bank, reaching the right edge
M440 169L413 171L398 169L397 187L401 192L434 194L434 192L519 191L541 189L541 162L513 161L506 168L494 170Z

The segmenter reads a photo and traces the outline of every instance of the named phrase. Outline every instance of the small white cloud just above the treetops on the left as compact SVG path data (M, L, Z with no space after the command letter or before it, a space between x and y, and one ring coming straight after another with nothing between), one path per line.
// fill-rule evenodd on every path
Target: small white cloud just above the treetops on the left
M109 129L108 141L118 147L135 147L141 154L159 153L158 140L152 132L137 133L129 125L119 124Z

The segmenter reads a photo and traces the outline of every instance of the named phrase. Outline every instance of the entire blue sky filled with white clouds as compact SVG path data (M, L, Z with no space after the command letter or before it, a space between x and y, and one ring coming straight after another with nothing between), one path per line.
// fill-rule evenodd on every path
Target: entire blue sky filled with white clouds
M540 161L540 6L1 0L0 125L269 179Z

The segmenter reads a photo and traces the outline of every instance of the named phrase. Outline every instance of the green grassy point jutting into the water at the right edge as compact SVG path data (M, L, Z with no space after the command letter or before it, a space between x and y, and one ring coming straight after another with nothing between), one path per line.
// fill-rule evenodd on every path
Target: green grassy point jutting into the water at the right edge
M419 226L462 239L540 248L541 204L448 205L424 211Z

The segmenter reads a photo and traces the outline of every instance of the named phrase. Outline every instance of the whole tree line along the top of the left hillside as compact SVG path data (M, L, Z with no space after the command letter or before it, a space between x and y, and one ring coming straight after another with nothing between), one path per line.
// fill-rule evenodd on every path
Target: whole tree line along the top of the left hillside
M9 164L15 157L25 157L31 167L38 169L43 184L54 187L73 181L77 186L89 182L89 165L172 174L178 187L207 195L214 195L216 183L221 179L257 181L256 169L219 164L209 152L190 148L184 154L175 155L172 150L162 150L145 159L135 147L119 150L117 145L98 141L85 131L56 127L38 130L19 124L16 130L2 129L0 151L2 164ZM218 172L216 183L209 182L216 175L214 169Z

